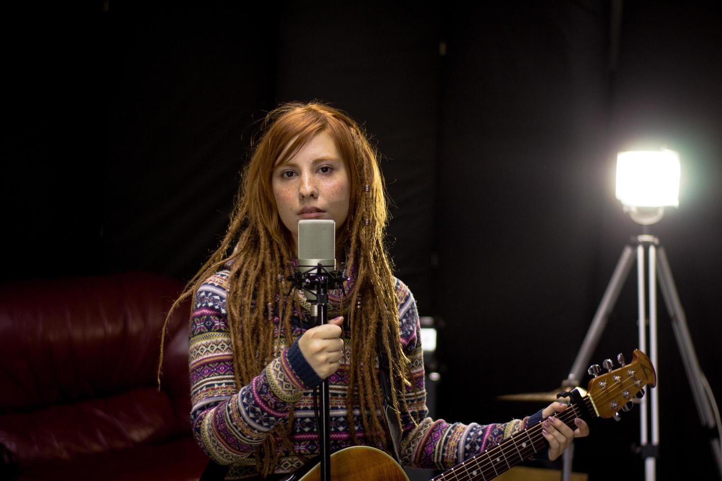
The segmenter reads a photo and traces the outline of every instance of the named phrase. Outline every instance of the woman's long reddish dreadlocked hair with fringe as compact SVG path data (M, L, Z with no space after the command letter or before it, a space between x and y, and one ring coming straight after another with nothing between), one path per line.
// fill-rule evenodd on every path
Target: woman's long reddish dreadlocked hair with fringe
M383 398L374 370L368 366L374 365L380 345L385 356L379 358L388 362L391 384L401 389L401 392L391 389L393 407L398 413L400 407L405 407L404 392L410 384L409 360L401 350L398 301L384 243L388 210L378 156L359 125L344 112L318 102L294 102L266 115L251 161L243 172L227 233L188 282L173 309L191 296L195 301L195 293L206 278L230 266L227 312L238 389L250 383L277 356L274 324L265 309L266 305L276 303L277 296L279 335L285 333L287 345L293 342L291 314L297 297L284 292L278 275L286 273L295 249L290 232L279 218L271 173L274 166L286 162L321 132L329 133L333 139L349 176L349 213L337 229L337 243L344 247L349 265L356 270L355 288L342 305L351 330L347 421L349 426L355 425L352 412L358 407L367 443L382 447L386 446L388 434L376 413L383 410ZM160 382L160 366L158 374ZM401 425L398 415L396 420ZM277 436L269 436L263 449L258 449L257 459L261 459L264 476L274 468L277 439L292 449L291 426L290 419L287 425L278 425L274 430ZM349 431L357 441L355 429Z

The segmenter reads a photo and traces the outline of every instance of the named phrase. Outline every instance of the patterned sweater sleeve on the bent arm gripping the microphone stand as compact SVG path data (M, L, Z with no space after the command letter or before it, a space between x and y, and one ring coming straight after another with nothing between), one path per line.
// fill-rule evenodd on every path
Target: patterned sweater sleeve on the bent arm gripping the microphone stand
M287 418L303 391L321 382L294 343L237 392L227 323L227 274L212 275L196 293L188 353L193 437L219 464L252 454Z

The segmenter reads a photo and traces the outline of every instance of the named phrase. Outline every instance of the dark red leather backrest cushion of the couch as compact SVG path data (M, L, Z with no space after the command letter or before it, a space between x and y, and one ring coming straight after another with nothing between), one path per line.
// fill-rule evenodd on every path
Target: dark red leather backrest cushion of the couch
M0 412L154 386L160 329L182 288L145 273L0 286ZM187 338L187 309L169 335ZM176 369L187 383L187 348Z

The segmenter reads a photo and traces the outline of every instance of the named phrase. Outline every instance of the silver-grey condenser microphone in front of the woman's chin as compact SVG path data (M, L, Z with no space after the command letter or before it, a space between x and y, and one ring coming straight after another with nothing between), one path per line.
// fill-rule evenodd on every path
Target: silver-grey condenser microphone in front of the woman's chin
M298 221L298 272L305 277L318 264L328 271L336 270L336 222L323 219ZM316 271L314 271L316 272ZM303 290L308 301L316 301L316 293Z

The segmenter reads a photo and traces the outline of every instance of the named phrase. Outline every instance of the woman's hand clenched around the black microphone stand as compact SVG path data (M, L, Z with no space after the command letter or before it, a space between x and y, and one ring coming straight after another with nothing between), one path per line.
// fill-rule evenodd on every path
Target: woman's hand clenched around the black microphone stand
M342 316L334 317L328 324L311 327L298 340L303 357L321 379L331 376L341 366L344 355L343 323Z

